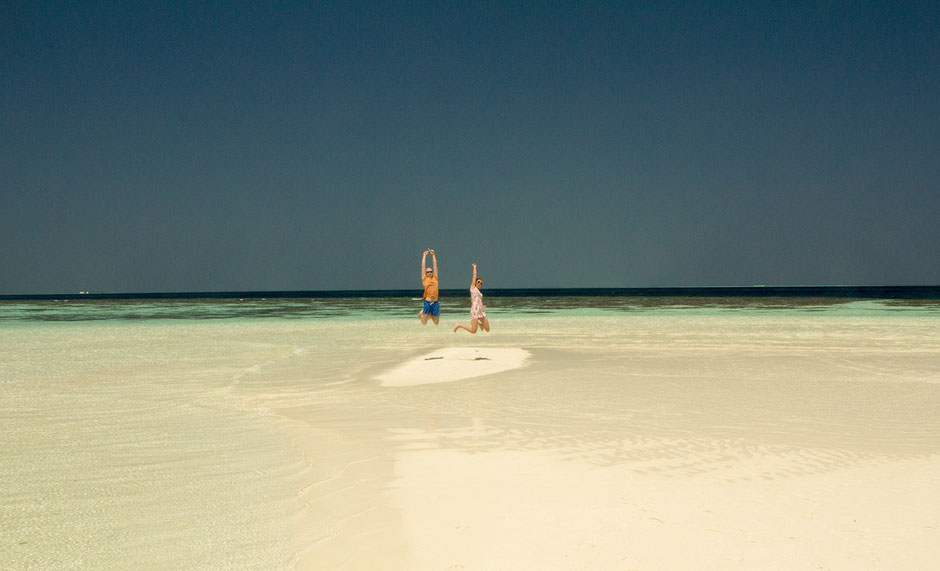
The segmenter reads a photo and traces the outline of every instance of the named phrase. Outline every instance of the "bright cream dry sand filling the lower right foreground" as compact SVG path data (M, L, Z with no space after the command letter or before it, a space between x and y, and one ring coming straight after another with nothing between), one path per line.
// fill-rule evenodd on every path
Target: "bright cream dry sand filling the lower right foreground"
M688 450L676 460L716 466L689 475L547 451L403 453L393 495L407 568L930 569L940 558L936 459L822 469L812 452L732 454Z

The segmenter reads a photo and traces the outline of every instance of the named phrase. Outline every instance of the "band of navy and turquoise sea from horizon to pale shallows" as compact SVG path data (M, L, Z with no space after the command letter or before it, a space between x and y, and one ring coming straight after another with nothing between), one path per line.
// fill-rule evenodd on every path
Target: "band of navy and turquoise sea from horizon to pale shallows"
M751 286L484 290L501 310L533 314L562 310L793 309L839 311L871 307L930 310L940 286ZM418 290L247 291L0 295L0 322L113 319L398 318L414 312ZM469 307L466 290L441 290L445 308ZM853 307L857 307L853 306ZM419 308L420 309L420 308ZM445 309L446 310L446 309Z

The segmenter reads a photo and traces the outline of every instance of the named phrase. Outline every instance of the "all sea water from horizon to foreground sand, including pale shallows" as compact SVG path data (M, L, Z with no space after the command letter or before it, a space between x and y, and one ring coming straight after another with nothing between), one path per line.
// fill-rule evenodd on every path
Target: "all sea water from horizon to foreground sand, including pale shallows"
M820 469L940 453L937 286L484 290L476 336L451 331L467 292L443 294L437 327L410 290L0 296L0 568L404 568L382 498L413 434L599 464L654 438L812 434ZM533 357L374 380L456 345ZM857 422L828 423L842 406Z

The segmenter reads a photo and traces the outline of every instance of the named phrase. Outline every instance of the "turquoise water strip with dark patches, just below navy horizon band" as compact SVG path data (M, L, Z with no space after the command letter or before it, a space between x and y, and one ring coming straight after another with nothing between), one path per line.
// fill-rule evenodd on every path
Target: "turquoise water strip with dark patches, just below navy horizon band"
M656 312L697 314L736 311L824 311L830 315L937 315L937 299L704 296L487 297L490 311L511 315L618 315ZM469 298L442 300L442 311L460 319ZM0 300L0 326L29 322L147 319L397 319L420 310L409 297L43 299Z

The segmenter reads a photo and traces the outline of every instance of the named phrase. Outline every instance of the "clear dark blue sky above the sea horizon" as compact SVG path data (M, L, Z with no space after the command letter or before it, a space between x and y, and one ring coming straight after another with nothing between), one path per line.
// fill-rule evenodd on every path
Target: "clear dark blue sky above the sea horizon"
M940 283L940 2L0 2L0 293Z

